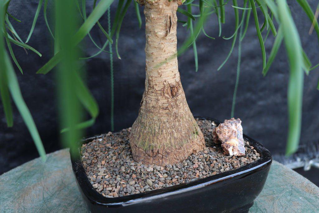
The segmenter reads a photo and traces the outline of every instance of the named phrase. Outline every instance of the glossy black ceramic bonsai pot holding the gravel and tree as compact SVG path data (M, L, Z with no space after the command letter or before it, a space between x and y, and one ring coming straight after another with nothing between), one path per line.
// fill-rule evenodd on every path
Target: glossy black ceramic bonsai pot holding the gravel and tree
M202 118L219 121L211 118ZM81 144L95 138L87 138ZM70 150L72 169L91 212L248 212L265 184L272 157L260 143L243 135L260 159L236 170L149 192L106 198L93 189L81 162L80 146ZM75 154L74 154L75 153Z

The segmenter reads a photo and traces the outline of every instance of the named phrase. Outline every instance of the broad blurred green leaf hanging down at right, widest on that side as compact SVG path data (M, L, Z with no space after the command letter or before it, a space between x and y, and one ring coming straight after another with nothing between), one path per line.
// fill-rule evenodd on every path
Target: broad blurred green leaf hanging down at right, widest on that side
M290 67L288 83L288 139L286 155L298 149L301 130L301 108L303 90L302 47L297 28L293 22L286 0L278 0L278 17L283 31ZM293 45L292 45L293 44Z

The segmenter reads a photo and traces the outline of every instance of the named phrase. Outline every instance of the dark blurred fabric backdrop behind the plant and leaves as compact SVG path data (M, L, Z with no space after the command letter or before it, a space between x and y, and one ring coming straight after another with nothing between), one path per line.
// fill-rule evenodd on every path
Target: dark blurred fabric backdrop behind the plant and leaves
M313 11L317 1L309 0ZM308 35L311 21L295 1L289 1L290 9L300 33L304 50L313 64L319 62L318 42L315 32ZM30 31L34 13L38 5L37 0L12 0L9 12L22 20L18 23L11 20L22 40ZM114 15L117 1L112 4L111 14ZM93 8L93 0L86 1L87 13ZM48 19L52 24L52 1L48 4ZM114 55L114 91L115 91L115 130L130 127L137 117L139 103L144 91L145 81L145 20L143 7L142 28L138 28L134 5L124 18L119 37L119 53L121 60ZM241 12L241 11L240 11ZM259 11L260 12L260 11ZM240 13L241 14L241 13ZM180 20L186 16L177 14ZM260 15L262 13L260 12ZM72 17L70 17L72 18ZM284 45L266 77L262 75L262 56L256 36L253 17L250 17L249 28L242 42L241 73L236 99L235 117L242 120L244 134L255 138L266 146L274 155L285 152L287 136L287 83L289 66L287 64ZM262 20L260 20L262 24ZM107 29L107 15L100 20ZM178 45L180 46L189 32L181 23L177 29ZM205 31L211 40L200 35L197 40L199 69L195 72L194 53L192 48L179 57L179 71L189 107L195 116L209 116L219 120L230 118L232 99L236 78L238 42L233 54L224 67L217 71L219 65L226 59L231 48L232 40L218 37L218 23L216 14L212 14L205 24ZM222 26L222 35L230 36L234 33L234 12L231 3L226 6L226 23ZM91 35L98 45L106 41L104 34L94 26ZM264 34L265 35L265 32ZM265 47L269 55L274 37L269 35ZM53 55L53 39L45 25L43 6L36 23L33 35L28 43L42 53L38 57L31 51L27 54L24 49L13 46L24 75L16 68L22 95L29 107L47 153L61 149L59 143L59 127L57 120L55 71L47 75L37 75L36 71ZM293 45L293 44L291 44ZM114 49L114 48L113 48ZM93 43L86 38L82 45L86 56L98 51ZM108 48L107 48L108 50ZM96 98L100 114L96 123L87 129L86 136L93 136L110 131L110 63L109 54L83 61L87 71L87 83ZM15 66L15 65L14 65ZM313 146L319 141L319 91L316 86L319 70L315 69L305 76L302 110L302 131L300 143ZM38 157L32 138L14 106L14 126L7 128L0 105L0 174L20 164ZM314 172L312 172L314 173Z

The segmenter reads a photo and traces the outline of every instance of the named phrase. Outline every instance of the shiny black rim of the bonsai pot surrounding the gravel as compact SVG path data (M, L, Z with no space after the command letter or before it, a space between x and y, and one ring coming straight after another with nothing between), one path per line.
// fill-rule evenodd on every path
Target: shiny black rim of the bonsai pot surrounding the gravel
M216 125L219 125L220 123L220 121L213 118L209 118L209 117L195 117L195 118L202 119L202 120L211 120L215 122ZM254 146L254 148L260 154L260 159L258 159L255 162L249 163L245 166L241 166L240 168L235 170L229 170L229 171L222 172L213 176L200 178L198 180L191 181L190 183L174 185L174 186L170 186L170 187L166 187L162 189L156 189L156 190L151 190L148 192L126 195L122 197L107 198L101 195L100 193L98 193L95 189L93 189L93 186L91 185L91 182L86 175L85 168L82 164L81 154L80 154L82 144L86 144L92 141L93 139L102 138L104 135L105 134L83 139L82 141L79 142L79 146L77 148L74 148L73 150L70 149L70 154L71 155L73 154L73 158L71 157L72 169L78 181L80 190L90 202L99 204L99 205L108 205L113 207L130 205L132 203L144 202L149 199L163 198L173 194L183 193L186 191L192 191L192 190L205 187L206 185L219 183L221 181L225 181L227 179L230 179L239 175L244 175L245 173L249 173L252 170L262 169L263 166L265 166L266 164L270 165L272 162L271 153L263 145L261 145L256 140L248 137L247 135L243 134L244 140L249 141L249 145Z

